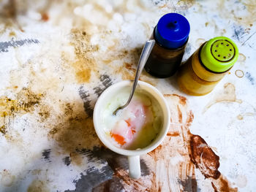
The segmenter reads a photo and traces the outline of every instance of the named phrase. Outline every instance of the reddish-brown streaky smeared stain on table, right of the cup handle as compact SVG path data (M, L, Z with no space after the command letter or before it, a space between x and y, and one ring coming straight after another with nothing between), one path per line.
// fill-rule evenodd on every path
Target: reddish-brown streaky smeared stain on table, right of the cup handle
M121 179L124 189L197 191L195 169L198 168L206 180L212 182L215 191L236 191L237 188L232 188L228 180L218 171L219 156L211 150L202 137L189 131L194 115L187 109L187 99L176 94L167 94L165 99L169 104L171 115L167 137L159 147L143 156L143 160L151 169L151 174L140 177L135 182L129 178L127 171L117 169L115 175Z

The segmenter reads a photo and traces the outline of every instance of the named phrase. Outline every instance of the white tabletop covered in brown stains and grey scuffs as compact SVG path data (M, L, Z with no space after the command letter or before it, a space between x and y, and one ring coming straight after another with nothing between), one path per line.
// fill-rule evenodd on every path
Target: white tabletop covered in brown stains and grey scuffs
M256 3L246 1L0 1L0 191L255 191ZM183 61L230 37L238 61L206 96L176 76L143 72L170 107L162 145L141 156L142 177L106 149L92 113L108 86L132 80L162 15L191 32Z

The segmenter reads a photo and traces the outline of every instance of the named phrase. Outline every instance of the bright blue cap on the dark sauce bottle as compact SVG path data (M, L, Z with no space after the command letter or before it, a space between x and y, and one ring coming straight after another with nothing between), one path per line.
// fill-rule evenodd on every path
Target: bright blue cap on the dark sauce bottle
M157 23L154 37L160 45L168 49L182 47L189 38L189 21L178 13L168 13Z

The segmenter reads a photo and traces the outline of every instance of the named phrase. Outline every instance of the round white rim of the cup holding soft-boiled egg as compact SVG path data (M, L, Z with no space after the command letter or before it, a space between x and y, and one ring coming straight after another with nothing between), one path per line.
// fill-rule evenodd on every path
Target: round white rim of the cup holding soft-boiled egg
M113 145L110 142L110 140L104 136L104 134L105 134L104 131L100 130L101 126L100 126L100 123L99 123L100 121L98 120L97 114L99 113L99 110L102 106L102 102L104 102L105 97L108 96L108 94L110 94L111 91L121 89L127 85L132 85L132 80L123 80L121 82L117 82L113 85L110 85L110 87L105 89L105 91L103 91L103 93L99 96L99 98L97 99L97 102L95 104L94 113L93 113L94 129L95 129L100 141L106 147L108 147L110 150L113 150L114 152L119 153L121 155L143 155L143 154L146 154L146 153L154 150L162 143L163 139L165 139L165 136L166 136L167 131L169 130L169 126L170 126L170 111L169 111L169 108L167 105L167 101L165 100L162 93L160 93L160 91L158 91L157 88L155 88L154 86L148 84L147 82L138 81L138 85L141 85L142 89L143 89L143 87L147 87L147 88L151 89L151 91L154 92L154 95L152 95L152 96L154 96L154 98L157 99L157 101L159 101L159 106L163 111L164 122L163 122L162 128L165 129L165 132L164 132L164 134L162 134L162 137L159 137L157 139L157 142L155 142L154 145L152 145L151 147L145 147L145 148L138 149L138 150L121 149L121 148ZM157 96L155 94L157 94Z

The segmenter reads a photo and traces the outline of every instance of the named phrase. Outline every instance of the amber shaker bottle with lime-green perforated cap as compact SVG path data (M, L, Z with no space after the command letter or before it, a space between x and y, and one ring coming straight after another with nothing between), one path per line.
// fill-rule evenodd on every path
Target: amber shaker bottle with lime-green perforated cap
M201 45L178 70L178 86L184 93L210 93L238 59L238 47L227 37L215 37Z

